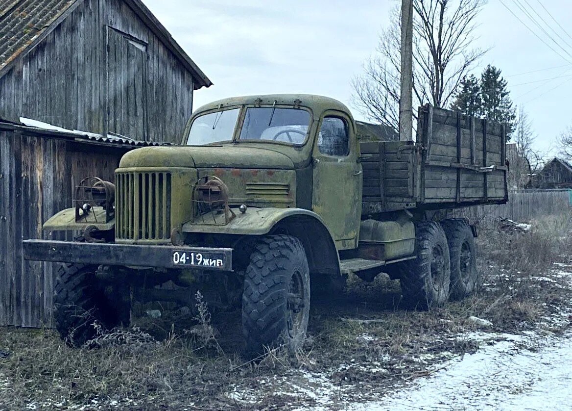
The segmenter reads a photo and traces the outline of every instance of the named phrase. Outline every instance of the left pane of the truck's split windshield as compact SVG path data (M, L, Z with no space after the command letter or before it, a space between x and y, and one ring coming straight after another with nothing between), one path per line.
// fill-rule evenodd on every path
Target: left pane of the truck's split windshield
M190 127L186 143L189 146L204 146L232 140L239 112L240 108L233 108L198 116Z

